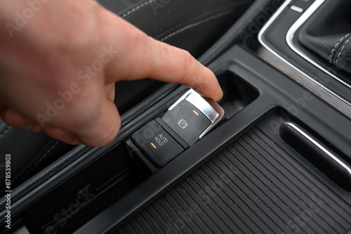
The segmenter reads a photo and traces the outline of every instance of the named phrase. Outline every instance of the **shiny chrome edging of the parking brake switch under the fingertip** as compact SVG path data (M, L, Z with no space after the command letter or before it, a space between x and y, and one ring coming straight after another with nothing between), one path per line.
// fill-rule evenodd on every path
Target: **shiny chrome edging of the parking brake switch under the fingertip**
M194 91L194 89L190 89L184 93L168 110L175 108L182 100L190 102L211 121L211 125L199 136L199 139L205 136L224 116L224 110L218 103L210 98L202 97L199 93Z

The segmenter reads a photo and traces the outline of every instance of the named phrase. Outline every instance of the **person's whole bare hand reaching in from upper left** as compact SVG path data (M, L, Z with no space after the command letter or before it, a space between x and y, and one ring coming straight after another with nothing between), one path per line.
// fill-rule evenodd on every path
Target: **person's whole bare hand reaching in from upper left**
M22 22L27 1L0 3L4 122L69 144L102 146L121 125L115 82L149 77L213 100L223 96L213 72L190 53L148 37L96 1L43 2Z

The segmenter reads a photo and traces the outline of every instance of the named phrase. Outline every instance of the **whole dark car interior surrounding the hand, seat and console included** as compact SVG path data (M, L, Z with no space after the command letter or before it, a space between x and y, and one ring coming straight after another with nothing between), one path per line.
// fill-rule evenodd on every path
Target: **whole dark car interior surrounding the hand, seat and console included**
M118 82L121 130L96 148L0 122L0 233L351 234L350 1L214 2L171 29L132 13L174 1L98 2L189 50L223 98Z

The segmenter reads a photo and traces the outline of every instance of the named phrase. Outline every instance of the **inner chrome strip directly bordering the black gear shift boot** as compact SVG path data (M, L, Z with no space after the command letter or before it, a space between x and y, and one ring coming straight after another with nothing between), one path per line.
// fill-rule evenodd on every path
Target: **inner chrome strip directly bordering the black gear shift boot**
M289 47L293 51L295 51L295 53L297 53L299 56L301 56L302 58L307 60L309 63L312 63L312 65L314 65L314 67L317 67L319 70L322 70L326 74L329 74L329 76L333 77L334 79L338 80L338 82L340 82L341 84L347 86L347 88L351 89L351 85L350 84L347 84L347 82L343 81L343 79L340 79L340 77L338 77L336 74L333 74L329 70L326 70L326 68L324 68L321 64L317 63L310 56L307 56L307 54L303 53L303 51L300 51L300 49L298 49L295 46L295 44L293 44L293 37L295 36L295 34L298 31L298 29L303 25L303 23L306 22L306 20L308 18L310 18L310 16L315 11L317 11L319 6L322 6L324 1L325 0L316 0L316 1L314 1L314 3L310 6L310 8L308 8L307 11L305 11L305 13L303 15L301 15L301 17L298 18L298 20L296 20L296 22L290 27L288 33L286 34L286 42L288 43Z

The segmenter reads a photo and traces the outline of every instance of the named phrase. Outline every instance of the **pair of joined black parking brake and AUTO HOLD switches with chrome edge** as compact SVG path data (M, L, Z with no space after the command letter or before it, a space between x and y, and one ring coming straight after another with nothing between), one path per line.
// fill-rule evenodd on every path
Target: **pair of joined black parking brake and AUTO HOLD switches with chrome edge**
M223 115L224 110L214 100L190 89L161 118L152 120L131 138L157 167L163 167L208 133Z

